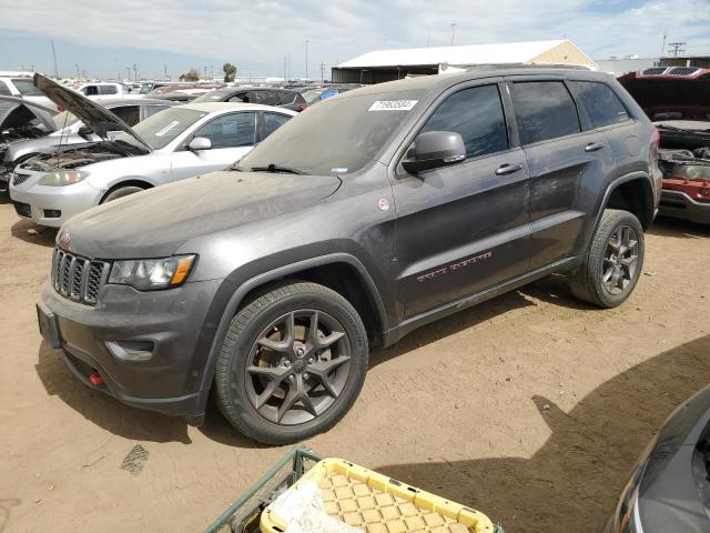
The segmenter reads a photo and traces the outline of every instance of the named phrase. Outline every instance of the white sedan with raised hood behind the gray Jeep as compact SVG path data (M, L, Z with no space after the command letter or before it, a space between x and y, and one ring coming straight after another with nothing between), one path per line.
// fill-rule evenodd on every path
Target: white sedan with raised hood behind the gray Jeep
M130 128L51 80L36 83L104 139L40 154L16 167L10 197L18 214L53 228L100 203L224 170L297 114L267 105L196 103L160 111ZM116 130L122 133L108 135Z

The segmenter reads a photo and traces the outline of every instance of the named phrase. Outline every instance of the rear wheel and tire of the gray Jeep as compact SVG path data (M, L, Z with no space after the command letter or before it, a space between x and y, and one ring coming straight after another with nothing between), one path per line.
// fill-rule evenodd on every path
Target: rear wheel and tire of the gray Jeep
M619 235L627 232L627 229L632 235L630 242L636 242L636 245L635 249L626 252L628 257L625 258L623 253L615 254L615 245L616 240L621 239ZM626 270L621 262L629 262L633 253L636 254L635 268ZM633 292L643 268L643 229L633 213L616 209L605 210L584 263L570 276L571 293L579 300L599 308L616 308ZM623 279L619 278L619 286L610 289L613 274L610 281L605 281L605 278L610 270L613 272L615 266L619 266Z

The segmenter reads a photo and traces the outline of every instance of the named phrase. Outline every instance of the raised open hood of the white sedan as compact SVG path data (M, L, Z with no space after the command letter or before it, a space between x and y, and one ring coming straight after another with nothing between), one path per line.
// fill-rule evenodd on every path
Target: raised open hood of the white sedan
M103 105L89 100L77 91L60 86L42 74L34 74L34 87L42 90L57 105L61 105L78 117L91 131L102 139L109 139L109 131L123 131L139 141L145 148L145 153L152 151L150 144L141 139L129 124Z

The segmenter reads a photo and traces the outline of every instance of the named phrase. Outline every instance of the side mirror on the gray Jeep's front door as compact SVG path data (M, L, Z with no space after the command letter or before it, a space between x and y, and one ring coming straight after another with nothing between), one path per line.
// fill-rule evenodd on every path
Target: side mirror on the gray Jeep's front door
M466 145L459 133L453 131L427 131L414 140L410 157L402 162L404 170L417 174L438 167L448 167L466 159Z

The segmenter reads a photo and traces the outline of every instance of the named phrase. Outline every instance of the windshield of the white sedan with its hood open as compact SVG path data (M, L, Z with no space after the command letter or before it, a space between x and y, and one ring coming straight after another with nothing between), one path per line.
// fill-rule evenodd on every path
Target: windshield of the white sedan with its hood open
M133 131L153 150L160 150L170 144L178 135L207 113L192 109L169 108L149 117L133 127ZM128 143L133 147L143 145L131 134L120 133L113 138L115 142ZM144 149L144 148L143 148Z

